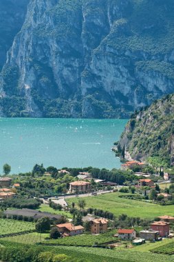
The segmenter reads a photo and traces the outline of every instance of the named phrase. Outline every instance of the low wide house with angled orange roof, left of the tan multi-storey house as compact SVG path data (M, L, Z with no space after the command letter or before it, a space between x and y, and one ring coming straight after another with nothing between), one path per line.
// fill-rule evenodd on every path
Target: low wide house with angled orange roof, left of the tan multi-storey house
M76 236L77 234L83 234L83 226L82 225L73 225L72 223L64 223L56 225L58 232L63 234L64 236Z

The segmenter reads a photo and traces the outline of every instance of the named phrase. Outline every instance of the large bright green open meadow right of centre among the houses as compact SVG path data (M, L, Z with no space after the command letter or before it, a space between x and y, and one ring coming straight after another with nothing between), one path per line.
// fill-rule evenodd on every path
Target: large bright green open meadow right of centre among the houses
M127 214L128 216L140 216L146 219L153 219L155 216L161 216L163 214L174 216L174 205L157 205L132 199L121 199L118 197L118 194L120 193L85 197L83 198L87 203L85 208L106 210L112 212L115 216ZM69 205L72 202L78 203L78 199L67 199L67 203L69 203Z

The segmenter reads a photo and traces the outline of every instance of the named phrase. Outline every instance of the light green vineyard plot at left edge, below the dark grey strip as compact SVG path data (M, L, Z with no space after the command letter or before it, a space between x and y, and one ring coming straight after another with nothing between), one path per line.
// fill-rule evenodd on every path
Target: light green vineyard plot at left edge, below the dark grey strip
M34 230L35 223L17 221L13 219L0 219L0 234L12 234Z

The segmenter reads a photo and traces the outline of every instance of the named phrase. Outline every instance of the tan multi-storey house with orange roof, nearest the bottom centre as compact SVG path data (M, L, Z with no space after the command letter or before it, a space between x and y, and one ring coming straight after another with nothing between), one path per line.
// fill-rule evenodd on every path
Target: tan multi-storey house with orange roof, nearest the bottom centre
M107 219L93 219L91 220L91 234L100 234L107 232Z

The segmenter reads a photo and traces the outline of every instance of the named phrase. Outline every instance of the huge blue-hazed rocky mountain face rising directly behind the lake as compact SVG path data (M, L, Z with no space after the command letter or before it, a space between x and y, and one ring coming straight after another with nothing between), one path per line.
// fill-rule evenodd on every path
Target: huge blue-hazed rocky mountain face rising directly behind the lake
M173 92L173 10L173 0L30 0L1 72L1 115L129 117Z

